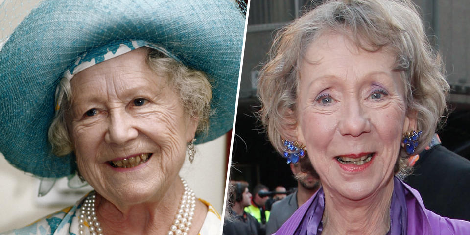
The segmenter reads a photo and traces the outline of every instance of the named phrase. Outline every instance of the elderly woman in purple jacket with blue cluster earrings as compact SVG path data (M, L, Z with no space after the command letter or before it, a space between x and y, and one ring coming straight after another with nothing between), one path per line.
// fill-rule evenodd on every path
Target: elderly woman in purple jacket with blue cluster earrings
M409 0L329 0L286 26L261 71L260 118L322 188L279 235L468 234L399 177L446 111L441 61Z

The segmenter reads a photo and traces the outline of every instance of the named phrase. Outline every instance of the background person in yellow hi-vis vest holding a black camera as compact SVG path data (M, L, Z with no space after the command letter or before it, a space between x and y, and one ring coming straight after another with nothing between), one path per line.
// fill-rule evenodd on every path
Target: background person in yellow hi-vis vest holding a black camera
M245 212L251 214L258 220L258 223L261 226L261 230L265 230L266 222L269 220L269 211L264 207L266 201L268 200L268 191L269 188L265 185L258 184L253 188L253 198L251 200L251 205L245 207Z

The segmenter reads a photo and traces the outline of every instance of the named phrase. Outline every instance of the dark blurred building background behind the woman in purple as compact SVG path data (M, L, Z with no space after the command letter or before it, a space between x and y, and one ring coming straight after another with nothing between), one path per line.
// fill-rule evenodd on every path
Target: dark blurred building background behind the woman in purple
M413 0L420 8L426 33L446 64L451 86L447 125L440 130L442 144L470 159L470 5L468 0ZM264 184L273 191L296 187L289 165L272 148L253 112L258 72L276 32L321 0L251 1L240 83L231 179L245 180L250 190Z

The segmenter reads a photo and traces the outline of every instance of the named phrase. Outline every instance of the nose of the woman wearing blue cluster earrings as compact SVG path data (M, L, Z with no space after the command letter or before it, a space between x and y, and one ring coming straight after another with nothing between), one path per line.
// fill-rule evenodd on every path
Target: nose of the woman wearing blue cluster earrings
M349 102L343 103L342 109L343 112L339 124L341 135L358 137L362 133L371 131L371 123L366 113L366 108L362 107L358 100L351 99Z

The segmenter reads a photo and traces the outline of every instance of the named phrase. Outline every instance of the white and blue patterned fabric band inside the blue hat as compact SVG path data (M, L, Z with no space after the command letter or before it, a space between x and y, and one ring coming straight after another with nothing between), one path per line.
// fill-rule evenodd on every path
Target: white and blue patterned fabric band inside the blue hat
M77 58L75 63L67 71L64 72L64 77L66 77L70 81L75 74L89 67L92 67L105 60L118 57L119 55L123 55L140 47L150 47L156 49L162 52L164 55L180 62L178 58L173 56L163 47L159 47L155 44L151 44L143 40L130 40L125 42L115 42L112 44L108 44L104 47L98 47L96 49L85 52L83 55Z

